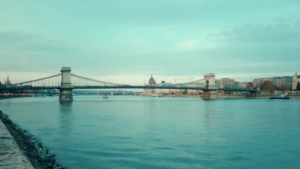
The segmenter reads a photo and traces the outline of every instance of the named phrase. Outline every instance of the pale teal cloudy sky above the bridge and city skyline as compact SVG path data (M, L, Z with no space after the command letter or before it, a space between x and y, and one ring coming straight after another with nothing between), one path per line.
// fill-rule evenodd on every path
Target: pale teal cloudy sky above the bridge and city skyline
M300 1L0 1L0 80L72 73L137 85L300 72Z

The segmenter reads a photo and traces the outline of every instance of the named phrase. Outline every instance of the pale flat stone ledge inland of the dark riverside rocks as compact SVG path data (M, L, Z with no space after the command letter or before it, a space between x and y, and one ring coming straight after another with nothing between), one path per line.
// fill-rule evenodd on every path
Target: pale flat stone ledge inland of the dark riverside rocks
M15 168L33 169L34 167L0 120L0 169Z

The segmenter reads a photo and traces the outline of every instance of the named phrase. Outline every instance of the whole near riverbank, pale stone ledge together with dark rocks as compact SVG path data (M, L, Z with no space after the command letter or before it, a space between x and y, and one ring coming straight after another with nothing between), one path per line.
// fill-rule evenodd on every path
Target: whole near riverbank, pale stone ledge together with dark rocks
M0 110L0 168L64 168L54 155Z

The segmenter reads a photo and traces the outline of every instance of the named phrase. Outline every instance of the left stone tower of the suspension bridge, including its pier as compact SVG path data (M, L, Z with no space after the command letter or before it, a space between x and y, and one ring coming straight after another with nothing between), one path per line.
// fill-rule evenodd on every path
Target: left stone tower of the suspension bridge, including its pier
M62 83L61 91L59 93L59 101L73 101L73 93L72 93L72 86L71 86L71 68L70 67L62 67Z

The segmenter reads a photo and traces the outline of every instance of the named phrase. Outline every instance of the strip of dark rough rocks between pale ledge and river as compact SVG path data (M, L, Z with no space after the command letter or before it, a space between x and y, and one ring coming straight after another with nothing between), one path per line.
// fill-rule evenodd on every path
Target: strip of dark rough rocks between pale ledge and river
M49 150L43 147L26 130L23 130L16 123L12 122L6 114L0 110L0 119L5 124L11 135L16 140L22 152L27 156L32 165L37 169L64 169L65 167L55 163L55 155L49 154Z

